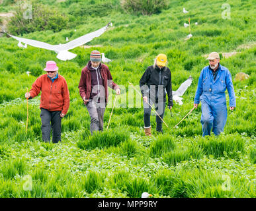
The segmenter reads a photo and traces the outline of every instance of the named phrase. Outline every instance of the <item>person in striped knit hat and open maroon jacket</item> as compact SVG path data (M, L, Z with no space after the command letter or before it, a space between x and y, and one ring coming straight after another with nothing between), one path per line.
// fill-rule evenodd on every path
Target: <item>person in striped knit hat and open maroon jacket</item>
M95 131L103 131L103 117L108 102L108 86L120 94L120 88L112 81L111 73L101 63L101 53L91 51L90 61L82 69L79 82L79 94L91 117L91 135Z

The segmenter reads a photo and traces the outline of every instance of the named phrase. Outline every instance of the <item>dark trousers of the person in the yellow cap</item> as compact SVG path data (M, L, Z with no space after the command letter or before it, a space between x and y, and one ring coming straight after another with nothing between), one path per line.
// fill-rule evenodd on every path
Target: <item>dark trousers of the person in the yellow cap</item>
M157 104L155 102L152 102L151 100L149 101L149 104L153 106L155 104L155 111L160 115L160 117L163 119L163 115L165 114L165 102L158 102ZM150 124L150 115L151 115L151 107L143 102L143 107L144 107L144 128L149 128L151 127ZM155 119L157 123L156 131L162 132L162 125L163 121L159 118L157 114L155 114Z

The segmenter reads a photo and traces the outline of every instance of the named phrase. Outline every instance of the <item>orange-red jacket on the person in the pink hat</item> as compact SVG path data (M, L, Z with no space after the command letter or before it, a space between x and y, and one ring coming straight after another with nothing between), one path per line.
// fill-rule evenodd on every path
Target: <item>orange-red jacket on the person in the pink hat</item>
M38 96L42 91L40 108L48 111L62 111L66 114L69 108L69 90L65 78L58 75L58 78L52 82L47 74L39 76L32 84L29 91L30 98Z

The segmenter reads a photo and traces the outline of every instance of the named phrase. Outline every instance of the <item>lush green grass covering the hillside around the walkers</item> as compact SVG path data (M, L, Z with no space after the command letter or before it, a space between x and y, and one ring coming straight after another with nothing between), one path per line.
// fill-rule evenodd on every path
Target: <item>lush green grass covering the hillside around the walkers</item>
M0 11L15 7L13 1L4 2ZM254 1L226 1L231 7L230 19L222 18L222 1L216 1L214 7L208 1L169 1L161 13L150 16L125 13L116 0L38 3L64 14L68 24L60 32L38 29L23 34L24 38L59 44L110 20L113 26L87 44L91 47L72 49L77 57L71 61L58 60L53 51L31 46L21 49L16 40L0 38L0 197L140 197L144 191L153 197L255 197ZM182 13L183 7L189 14ZM193 36L185 40L189 29L183 23L188 23L189 16ZM112 59L108 67L122 88L106 131L114 100L110 90L105 131L95 136L90 135L89 113L78 90L81 69L93 49ZM237 107L228 111L222 135L202 138L200 106L173 127L191 110L200 70L208 65L204 55L211 51L222 55L237 52L221 60L232 74ZM163 135L157 135L155 116L151 117L150 138L144 136L142 101L136 92L129 95L128 81L138 85L158 53L167 54L173 90L189 75L194 80L183 96L184 104L174 103L172 117L165 111L169 127L163 125ZM57 62L71 99L58 144L41 140L40 96L28 101L26 133L24 93L44 73L48 60ZM249 79L235 81L239 72L247 73ZM128 107L131 99L134 107Z

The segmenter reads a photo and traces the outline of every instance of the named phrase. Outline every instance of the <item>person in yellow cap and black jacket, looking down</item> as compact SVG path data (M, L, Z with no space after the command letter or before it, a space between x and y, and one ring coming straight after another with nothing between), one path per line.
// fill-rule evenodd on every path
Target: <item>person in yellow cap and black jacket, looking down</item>
M173 90L171 88L171 71L167 65L167 56L160 53L155 58L154 65L149 66L140 78L140 90L144 106L144 131L146 136L151 136L151 106L155 104L155 111L163 119L165 113L166 94L168 95L168 109L173 107ZM163 122L156 115L156 131L163 133Z

